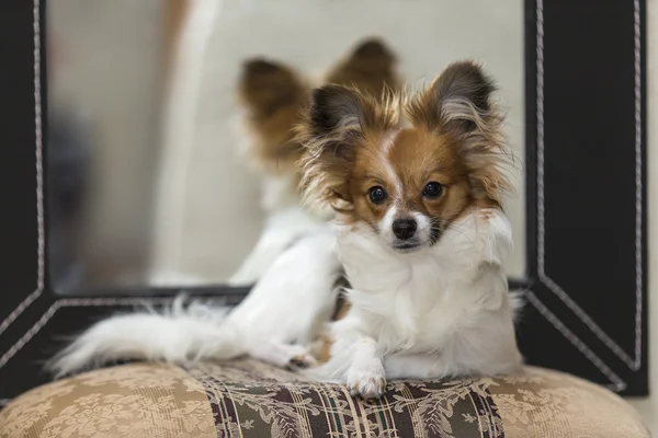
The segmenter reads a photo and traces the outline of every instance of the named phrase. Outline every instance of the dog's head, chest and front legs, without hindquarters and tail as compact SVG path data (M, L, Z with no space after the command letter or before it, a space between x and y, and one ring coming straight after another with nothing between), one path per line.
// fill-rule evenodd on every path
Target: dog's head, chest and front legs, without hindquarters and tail
M492 376L521 366L502 261L509 157L477 65L415 96L313 93L298 127L305 198L337 211L350 308L309 377L379 397L386 379Z

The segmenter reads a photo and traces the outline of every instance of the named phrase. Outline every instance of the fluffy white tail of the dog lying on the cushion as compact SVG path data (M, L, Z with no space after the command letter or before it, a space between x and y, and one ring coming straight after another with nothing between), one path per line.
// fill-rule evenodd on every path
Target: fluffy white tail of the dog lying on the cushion
M245 354L240 331L227 320L229 308L178 297L162 311L145 309L100 321L59 351L46 368L61 377L123 360L185 364Z

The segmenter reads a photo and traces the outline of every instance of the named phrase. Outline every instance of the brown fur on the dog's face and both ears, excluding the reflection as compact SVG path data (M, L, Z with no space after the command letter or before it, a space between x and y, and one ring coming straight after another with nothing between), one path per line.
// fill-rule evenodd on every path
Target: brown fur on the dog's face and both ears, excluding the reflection
M396 201L440 228L468 206L500 206L509 185L502 170L509 155L494 90L492 81L468 61L449 66L415 96L387 94L378 102L344 87L315 90L297 128L305 147L299 163L307 199L332 205L348 221L371 224ZM412 127L400 128L400 113ZM422 196L429 182L443 185L442 196ZM370 188L393 194L396 183L404 187L401 199L370 201Z

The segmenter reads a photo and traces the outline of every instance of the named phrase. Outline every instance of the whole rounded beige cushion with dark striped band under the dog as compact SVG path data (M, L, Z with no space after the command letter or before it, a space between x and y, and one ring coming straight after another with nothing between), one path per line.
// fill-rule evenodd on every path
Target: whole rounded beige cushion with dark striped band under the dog
M555 371L390 382L376 403L240 360L183 369L133 364L36 388L0 412L0 437L639 438L633 408Z

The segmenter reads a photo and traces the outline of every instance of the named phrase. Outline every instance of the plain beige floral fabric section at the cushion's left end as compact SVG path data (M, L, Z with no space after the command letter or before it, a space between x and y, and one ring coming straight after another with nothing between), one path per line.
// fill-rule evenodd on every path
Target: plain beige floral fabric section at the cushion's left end
M215 438L201 384L166 365L127 365L55 381L0 411L1 438Z

